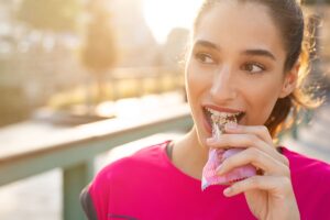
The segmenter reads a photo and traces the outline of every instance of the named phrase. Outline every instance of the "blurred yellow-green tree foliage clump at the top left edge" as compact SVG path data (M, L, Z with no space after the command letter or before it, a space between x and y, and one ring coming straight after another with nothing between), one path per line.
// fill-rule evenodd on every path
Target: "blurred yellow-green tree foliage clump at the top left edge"
M80 0L23 0L16 18L34 29L73 32L81 10Z

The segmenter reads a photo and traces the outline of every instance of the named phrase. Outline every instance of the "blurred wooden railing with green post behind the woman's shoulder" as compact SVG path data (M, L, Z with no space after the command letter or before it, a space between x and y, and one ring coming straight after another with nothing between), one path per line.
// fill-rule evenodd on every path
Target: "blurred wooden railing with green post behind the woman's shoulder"
M188 130L191 125L189 109L182 105L130 119L116 118L57 130L50 135L32 138L16 150L3 151L6 143L0 140L0 186L59 167L64 177L63 219L85 219L78 197L94 176L97 155L151 134Z

